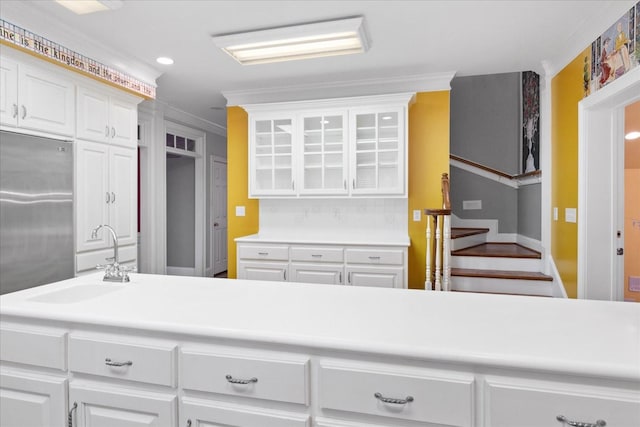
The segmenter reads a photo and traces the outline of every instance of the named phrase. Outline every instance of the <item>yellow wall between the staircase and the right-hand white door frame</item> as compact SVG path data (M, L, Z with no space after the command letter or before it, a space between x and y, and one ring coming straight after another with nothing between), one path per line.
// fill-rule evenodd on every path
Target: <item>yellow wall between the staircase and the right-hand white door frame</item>
M565 208L578 207L578 102L584 97L585 49L551 82L551 255L569 298L578 293L578 226L564 221ZM548 212L553 218L553 212ZM578 218L580 221L580 218Z

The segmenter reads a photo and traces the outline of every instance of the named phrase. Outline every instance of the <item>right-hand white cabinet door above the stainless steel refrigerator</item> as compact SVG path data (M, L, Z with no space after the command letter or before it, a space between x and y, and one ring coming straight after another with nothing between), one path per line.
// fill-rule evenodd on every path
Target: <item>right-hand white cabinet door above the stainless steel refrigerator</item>
M73 82L46 70L20 65L18 100L21 127L62 135L74 134Z

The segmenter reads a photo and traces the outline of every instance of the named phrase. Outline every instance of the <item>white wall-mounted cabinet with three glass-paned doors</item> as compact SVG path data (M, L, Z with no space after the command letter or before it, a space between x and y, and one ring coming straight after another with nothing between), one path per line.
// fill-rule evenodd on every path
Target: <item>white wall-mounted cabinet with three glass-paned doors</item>
M412 97L245 105L249 196L406 197Z

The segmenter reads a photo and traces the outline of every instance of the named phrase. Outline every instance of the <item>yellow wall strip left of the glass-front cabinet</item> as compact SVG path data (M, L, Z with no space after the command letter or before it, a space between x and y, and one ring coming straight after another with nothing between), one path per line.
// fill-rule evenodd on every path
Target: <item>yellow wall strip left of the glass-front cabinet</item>
M249 116L240 107L227 108L227 275L237 277L236 237L258 232L258 200L249 199ZM236 216L244 206L246 216Z

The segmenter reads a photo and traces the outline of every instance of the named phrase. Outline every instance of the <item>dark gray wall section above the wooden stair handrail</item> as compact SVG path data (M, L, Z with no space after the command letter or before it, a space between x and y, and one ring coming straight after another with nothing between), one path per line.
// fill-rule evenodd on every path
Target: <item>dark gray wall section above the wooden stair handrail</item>
M451 154L520 173L520 73L451 82Z

